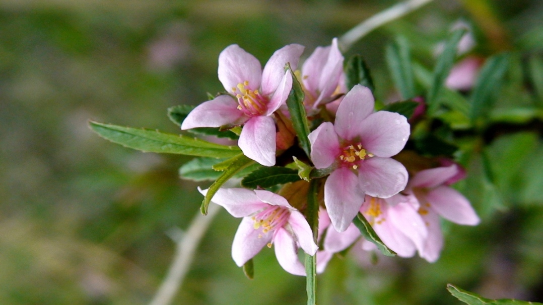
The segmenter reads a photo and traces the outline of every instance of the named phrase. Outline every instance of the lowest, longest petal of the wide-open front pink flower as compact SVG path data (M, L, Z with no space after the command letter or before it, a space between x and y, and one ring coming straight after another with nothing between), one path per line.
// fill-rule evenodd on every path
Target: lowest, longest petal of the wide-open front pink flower
M324 184L324 204L334 229L345 231L364 202L364 192L349 168L333 171Z

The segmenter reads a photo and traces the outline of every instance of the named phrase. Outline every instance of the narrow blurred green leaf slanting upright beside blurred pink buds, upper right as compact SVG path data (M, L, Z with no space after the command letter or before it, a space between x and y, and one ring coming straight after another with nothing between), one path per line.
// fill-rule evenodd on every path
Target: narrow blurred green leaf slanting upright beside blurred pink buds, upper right
M445 43L443 53L441 53L435 64L434 73L432 75L432 85L426 96L426 103L428 104L428 112L434 113L439 108L439 97L441 89L445 83L445 79L451 72L454 58L456 57L457 46L460 38L464 35L464 29L458 29L454 31L449 40Z

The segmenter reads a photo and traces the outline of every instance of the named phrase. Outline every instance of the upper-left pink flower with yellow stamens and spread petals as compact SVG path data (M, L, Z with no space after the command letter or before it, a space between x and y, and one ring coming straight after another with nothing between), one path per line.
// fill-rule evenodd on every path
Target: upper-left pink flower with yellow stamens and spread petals
M238 145L247 157L266 166L275 165L275 121L271 116L292 88L293 70L304 47L289 44L270 57L262 70L256 57L232 44L219 55L219 81L232 95L219 95L188 114L181 129L244 125ZM271 135L274 135L273 137Z

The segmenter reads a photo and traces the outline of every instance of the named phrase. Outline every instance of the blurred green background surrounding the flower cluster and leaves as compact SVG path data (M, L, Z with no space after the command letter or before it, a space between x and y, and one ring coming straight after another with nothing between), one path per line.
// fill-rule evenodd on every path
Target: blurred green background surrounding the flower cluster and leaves
M196 187L206 184L178 178L188 158L112 144L88 120L177 133L166 108L222 90L217 59L229 44L263 63L294 42L307 57L395 3L1 0L0 304L146 304L174 254L167 232L185 229L199 211ZM526 62L543 54L542 18L539 0L437 0L374 31L346 57L363 54L376 98L390 101L386 44L406 36L414 57L432 67L435 45L461 19L472 24L479 56L514 55L498 108L541 107L523 75L537 78ZM458 187L482 223L445 224L437 263L336 257L318 277L318 303L459 304L446 283L542 302L540 122L497 134L485 160L469 159ZM305 278L283 271L273 249L255 258L255 280L245 278L230 257L238 222L219 213L173 303L305 303Z

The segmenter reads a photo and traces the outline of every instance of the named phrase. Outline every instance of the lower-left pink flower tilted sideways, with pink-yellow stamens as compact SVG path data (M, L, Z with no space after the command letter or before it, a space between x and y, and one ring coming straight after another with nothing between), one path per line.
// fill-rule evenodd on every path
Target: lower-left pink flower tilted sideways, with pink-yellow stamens
M232 258L239 267L264 245L275 244L275 256L283 269L294 275L306 274L296 252L302 248L314 255L318 246L307 220L285 198L264 190L219 189L212 201L233 217L243 217L232 243Z

